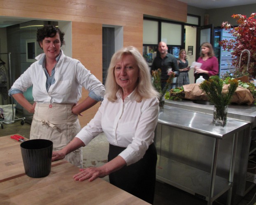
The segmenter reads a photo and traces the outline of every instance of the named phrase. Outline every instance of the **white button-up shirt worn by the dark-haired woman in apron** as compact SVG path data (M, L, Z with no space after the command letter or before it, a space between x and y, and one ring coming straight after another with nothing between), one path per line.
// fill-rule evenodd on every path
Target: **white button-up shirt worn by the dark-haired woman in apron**
M93 91L97 96L103 97L105 87L88 71L77 59L64 55L61 56L55 66L55 83L47 92L42 53L36 57L33 63L13 84L11 90L26 91L33 85L33 98L38 103L77 103L81 98L81 89Z

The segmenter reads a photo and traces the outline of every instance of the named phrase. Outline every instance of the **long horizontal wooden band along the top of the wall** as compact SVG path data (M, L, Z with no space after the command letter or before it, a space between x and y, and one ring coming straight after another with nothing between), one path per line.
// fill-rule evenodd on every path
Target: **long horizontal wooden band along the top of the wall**
M187 14L187 4L177 0L0 0L0 9L12 10L0 14L6 16L101 24L136 22L136 14L185 22Z

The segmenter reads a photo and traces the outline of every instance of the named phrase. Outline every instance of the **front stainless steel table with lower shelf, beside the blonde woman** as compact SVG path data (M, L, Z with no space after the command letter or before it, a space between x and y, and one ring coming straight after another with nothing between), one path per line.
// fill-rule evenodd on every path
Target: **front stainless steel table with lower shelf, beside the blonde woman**
M232 118L228 118L225 127L214 126L212 123L212 115L210 114L165 106L165 108L159 112L158 126L156 129L155 143L159 154L157 179L194 194L195 196L199 196L207 200L208 204L212 204L216 198L228 191L227 204L230 204L237 136L239 132L249 128L249 126L250 123L248 122L237 121ZM165 136L165 139L163 136ZM178 139L171 141L171 138ZM182 138L185 138L185 140ZM222 155L230 155L228 178L216 175L219 146L220 142L224 139L231 140L231 153L221 153ZM179 142L181 144L177 144ZM184 144L186 144L186 148L189 150L190 148L198 146L197 144L200 143L200 146L203 146L204 143L207 144L207 146L209 146L208 144L212 144L212 150L206 153L207 155L212 153L210 169L207 168L207 165L204 167L204 162L201 162L201 164L198 163L200 166L196 166L196 158L192 166L191 162L184 160L184 158L190 157L186 156L189 151L186 152ZM170 154L168 154L168 152L170 152ZM181 152L183 152L182 155L180 155ZM196 152L197 150L193 150L193 153L196 154ZM198 153L200 153L200 150L198 150ZM191 159L193 159L193 157Z

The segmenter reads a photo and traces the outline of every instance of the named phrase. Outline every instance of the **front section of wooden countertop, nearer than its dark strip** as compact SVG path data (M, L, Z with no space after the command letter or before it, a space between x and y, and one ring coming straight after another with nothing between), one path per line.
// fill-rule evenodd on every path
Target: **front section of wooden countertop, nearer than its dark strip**
M148 204L108 182L97 178L92 182L75 181L76 166L65 163L51 168L44 178L23 175L0 184L4 204Z

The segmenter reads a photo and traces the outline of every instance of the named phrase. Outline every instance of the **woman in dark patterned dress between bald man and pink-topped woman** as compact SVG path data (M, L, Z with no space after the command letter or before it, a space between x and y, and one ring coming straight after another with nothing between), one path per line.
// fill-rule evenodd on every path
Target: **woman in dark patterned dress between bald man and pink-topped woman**
M176 87L182 87L183 85L189 84L189 62L187 61L186 50L182 49L179 51L178 66L179 76L176 80Z

